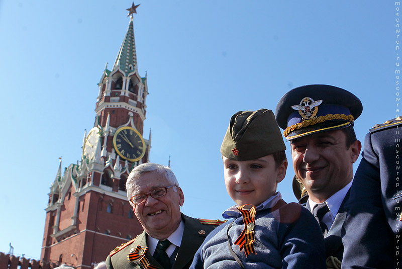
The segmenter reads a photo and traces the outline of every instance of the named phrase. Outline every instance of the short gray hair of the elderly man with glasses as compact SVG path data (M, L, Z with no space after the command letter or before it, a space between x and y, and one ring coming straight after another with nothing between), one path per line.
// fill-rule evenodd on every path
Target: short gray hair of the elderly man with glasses
M147 172L156 172L160 175L163 175L167 181L174 186L179 187L179 183L177 182L177 178L174 175L173 171L168 166L164 166L157 163L147 162L142 163L135 167L129 174L126 182L126 190L127 190L127 198L130 201L130 198L133 197L135 181L144 173ZM131 202L130 202L131 203Z

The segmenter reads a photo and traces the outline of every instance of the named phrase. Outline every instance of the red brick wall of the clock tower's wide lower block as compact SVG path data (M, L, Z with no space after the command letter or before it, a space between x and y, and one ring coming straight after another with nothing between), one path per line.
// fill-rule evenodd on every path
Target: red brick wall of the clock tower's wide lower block
M110 197L94 191L89 191L78 199L81 202L76 234L74 234L75 231L71 231L66 234L65 239L63 239L64 235L56 239L50 237L53 231L51 227L48 227L51 213L47 214L45 239L52 240L53 243L42 249L42 259L55 262L62 254L63 263L74 264L75 267L82 269L92 268L93 264L105 260L116 246L127 242L127 235L134 238L142 233L143 229L137 218L134 215L132 219L128 217L131 206L127 199ZM71 195L70 200L65 199L65 203L66 206L60 216L60 230L62 230L62 222L63 228L71 225L75 197ZM109 203L113 205L112 213L107 212ZM106 230L110 231L110 235L105 234Z

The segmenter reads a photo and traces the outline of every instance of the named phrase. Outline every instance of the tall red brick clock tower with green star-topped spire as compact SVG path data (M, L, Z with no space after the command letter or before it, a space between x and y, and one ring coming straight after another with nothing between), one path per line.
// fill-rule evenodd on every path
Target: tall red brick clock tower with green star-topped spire
M147 76L138 72L133 15L111 70L98 83L95 124L85 131L77 164L62 171L61 160L49 202L41 262L93 268L116 246L142 232L127 201L130 171L149 161L151 133L143 138Z

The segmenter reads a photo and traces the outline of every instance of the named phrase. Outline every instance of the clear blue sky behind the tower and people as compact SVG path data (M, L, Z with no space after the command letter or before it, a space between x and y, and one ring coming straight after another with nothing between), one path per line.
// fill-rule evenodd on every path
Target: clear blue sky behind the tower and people
M81 156L96 83L113 66L131 1L0 2L0 251L40 257L48 192L60 156ZM360 140L396 117L394 1L145 1L134 18L140 75L148 72L150 160L168 163L182 211L221 218L219 148L232 114L275 110L290 88L348 89L363 103ZM401 46L402 47L402 46ZM289 161L290 154L287 150ZM357 165L356 165L357 166ZM279 191L287 202L291 165Z

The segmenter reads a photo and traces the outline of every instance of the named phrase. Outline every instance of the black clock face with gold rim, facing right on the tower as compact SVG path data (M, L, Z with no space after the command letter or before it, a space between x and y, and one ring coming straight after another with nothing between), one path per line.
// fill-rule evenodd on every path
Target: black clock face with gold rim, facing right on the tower
M116 131L113 146L120 157L129 161L138 161L145 154L144 139L131 127L121 127Z

